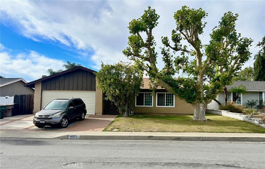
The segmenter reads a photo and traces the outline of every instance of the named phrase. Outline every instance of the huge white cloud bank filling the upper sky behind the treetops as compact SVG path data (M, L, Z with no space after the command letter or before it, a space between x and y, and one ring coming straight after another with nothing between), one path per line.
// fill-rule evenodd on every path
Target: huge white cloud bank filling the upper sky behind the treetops
M131 19L143 14L148 5L161 16L153 31L158 47L161 36L169 36L175 28L174 12L183 5L202 7L209 16L202 41L209 41L211 29L218 24L224 12L239 13L238 32L251 37L254 43L264 35L264 1L2 1L1 21L10 21L21 34L36 41L51 39L60 43L94 51L90 66L99 68L101 61L115 63L127 60L122 50L127 46L127 26ZM254 46L251 52L258 51ZM85 53L81 54L86 59ZM252 65L253 58L246 65ZM158 68L162 68L161 57Z

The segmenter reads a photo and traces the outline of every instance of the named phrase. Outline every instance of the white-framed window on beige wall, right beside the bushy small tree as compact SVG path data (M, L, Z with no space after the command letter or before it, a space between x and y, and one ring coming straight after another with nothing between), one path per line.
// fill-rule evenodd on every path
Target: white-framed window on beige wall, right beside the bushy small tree
M139 107L153 107L153 95L151 92L140 92L138 96L135 97L135 106Z

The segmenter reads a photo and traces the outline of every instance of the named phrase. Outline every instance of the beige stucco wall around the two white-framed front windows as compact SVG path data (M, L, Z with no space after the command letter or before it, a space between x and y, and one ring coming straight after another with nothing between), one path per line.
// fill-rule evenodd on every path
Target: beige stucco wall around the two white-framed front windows
M194 112L191 104L179 100L176 97L175 107L156 107L156 94L153 96L153 107L137 107L135 106L135 99L133 99L133 109L135 113L193 114Z

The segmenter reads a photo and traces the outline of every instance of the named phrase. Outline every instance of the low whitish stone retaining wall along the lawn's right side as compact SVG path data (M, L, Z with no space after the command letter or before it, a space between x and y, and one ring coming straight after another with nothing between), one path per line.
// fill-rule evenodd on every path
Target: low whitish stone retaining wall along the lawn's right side
M219 115L222 115L222 116L231 117L231 118L235 118L235 119L238 119L238 120L242 120L242 121L246 121L246 122L249 122L249 123L253 123L253 124L256 124L256 125L258 125L260 127L265 128L265 124L263 124L261 119L252 117L250 115L244 115L242 113L233 113L233 112L229 112L227 110L215 110L215 109L206 109L205 113L219 114Z

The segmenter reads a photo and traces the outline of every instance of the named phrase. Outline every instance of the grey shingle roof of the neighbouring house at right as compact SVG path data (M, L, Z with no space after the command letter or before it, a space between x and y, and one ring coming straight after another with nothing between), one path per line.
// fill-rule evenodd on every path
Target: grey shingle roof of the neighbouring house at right
M265 91L265 81L235 81L226 88L229 91L231 88L238 86L245 86L246 91Z

